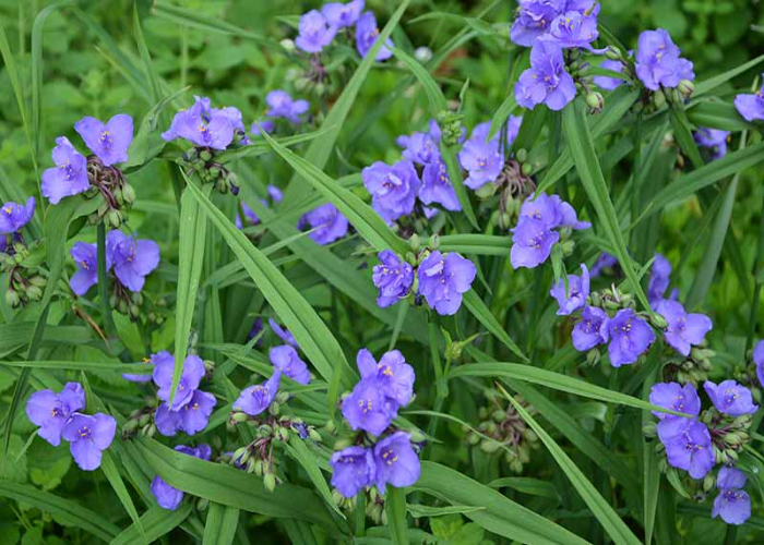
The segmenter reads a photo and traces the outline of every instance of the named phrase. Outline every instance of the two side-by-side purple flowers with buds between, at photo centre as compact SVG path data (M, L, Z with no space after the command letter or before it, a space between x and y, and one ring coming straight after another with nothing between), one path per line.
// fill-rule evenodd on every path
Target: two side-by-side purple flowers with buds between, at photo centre
M379 289L377 304L387 307L410 293L417 301L423 296L438 314L456 314L462 296L471 288L477 274L475 264L456 252L423 251L418 257L409 254L404 261L399 255L384 250L380 252L381 265L375 265L372 281Z

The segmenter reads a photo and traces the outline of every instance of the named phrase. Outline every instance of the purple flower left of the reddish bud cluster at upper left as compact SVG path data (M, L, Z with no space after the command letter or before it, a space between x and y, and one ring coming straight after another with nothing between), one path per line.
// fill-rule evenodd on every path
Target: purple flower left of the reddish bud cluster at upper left
M87 159L81 155L69 138L59 136L56 138L56 147L52 152L56 167L43 172L43 195L50 204L59 204L63 197L76 195L91 186L87 181Z

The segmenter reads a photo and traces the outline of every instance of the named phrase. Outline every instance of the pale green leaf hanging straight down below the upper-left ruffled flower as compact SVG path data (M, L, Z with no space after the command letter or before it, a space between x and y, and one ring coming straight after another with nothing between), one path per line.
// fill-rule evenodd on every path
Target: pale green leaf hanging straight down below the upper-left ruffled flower
M199 201L189 191L191 185L191 183L188 184L180 197L175 367L172 370L172 386L170 387L170 405L180 384L183 361L189 348L189 334L191 332L193 312L196 306L196 296L199 295L199 282L202 276L202 265L204 265L204 244L207 234L206 215L200 210ZM208 186L205 191L206 194L210 194Z

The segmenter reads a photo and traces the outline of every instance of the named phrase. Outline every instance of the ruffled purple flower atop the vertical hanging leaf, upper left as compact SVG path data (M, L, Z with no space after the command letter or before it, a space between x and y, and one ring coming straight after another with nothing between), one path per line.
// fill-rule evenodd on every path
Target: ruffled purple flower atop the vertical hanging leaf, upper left
M225 149L234 141L234 126L229 111L210 107L206 97L194 97L194 105L179 111L172 118L169 130L162 133L166 141L186 138L201 147ZM243 130L243 124L241 125Z

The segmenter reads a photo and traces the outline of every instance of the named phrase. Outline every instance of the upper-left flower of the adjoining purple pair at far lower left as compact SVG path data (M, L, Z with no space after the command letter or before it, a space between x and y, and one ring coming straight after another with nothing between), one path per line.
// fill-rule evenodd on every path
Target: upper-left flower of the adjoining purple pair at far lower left
M29 396L26 415L39 426L37 435L53 447L61 444L61 431L71 415L85 408L85 390L79 383L67 383L60 393L39 390Z

